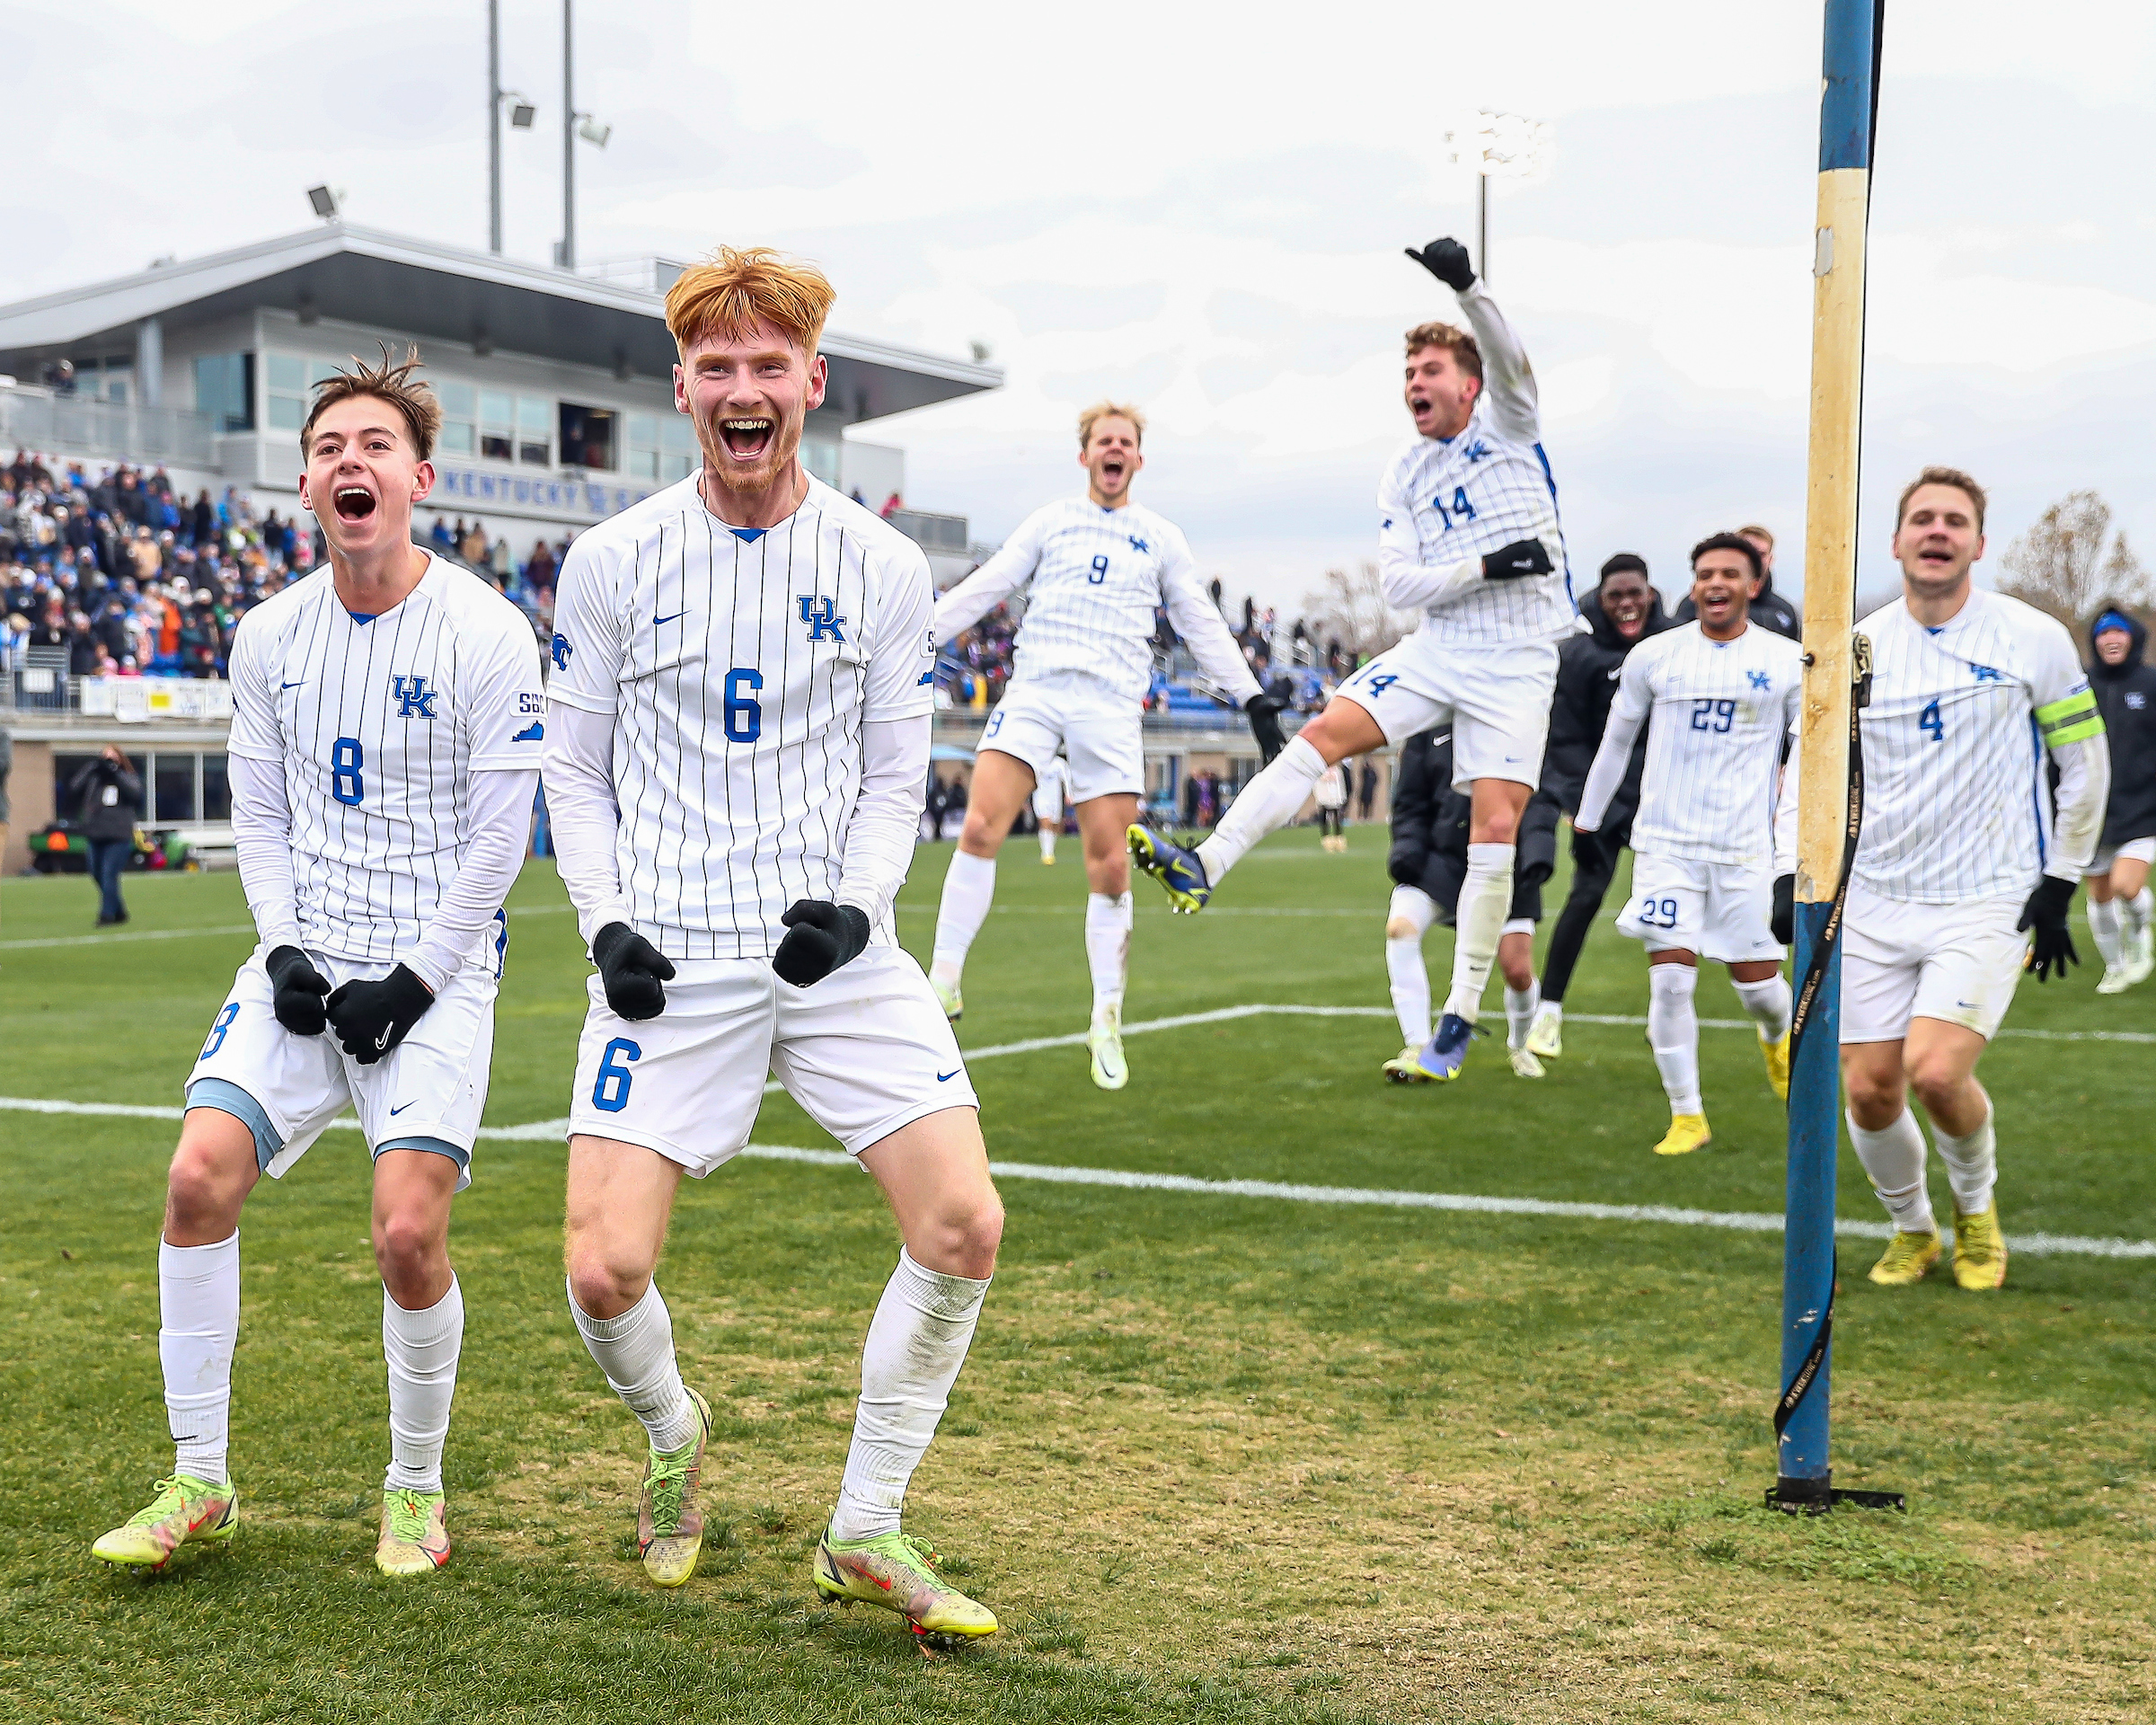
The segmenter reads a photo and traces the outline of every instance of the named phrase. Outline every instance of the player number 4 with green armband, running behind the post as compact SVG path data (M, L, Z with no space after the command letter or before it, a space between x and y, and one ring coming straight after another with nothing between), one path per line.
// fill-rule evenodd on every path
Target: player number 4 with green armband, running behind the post
M1977 1059L2022 968L2078 964L2068 912L2104 819L2111 763L2096 694L2061 623L1968 580L1984 487L1925 468L1895 507L1902 597L1871 638L1863 709L1865 824L1841 919L1841 1080L1850 1138L1895 1236L1871 1281L1904 1287L1938 1261L1917 1093L1953 1188L1953 1279L1999 1287L1992 1100ZM2046 753L2059 772L2046 794ZM1798 770L1789 757L1789 774ZM1783 800L1774 916L1787 938L1796 867Z

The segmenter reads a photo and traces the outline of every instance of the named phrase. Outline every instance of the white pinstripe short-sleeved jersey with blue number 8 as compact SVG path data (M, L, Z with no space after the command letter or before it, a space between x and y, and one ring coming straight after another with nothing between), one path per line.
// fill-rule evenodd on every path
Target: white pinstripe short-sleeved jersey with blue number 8
M285 768L302 942L410 953L472 839L470 774L539 768L533 625L433 554L371 619L323 567L239 619L231 679L231 753Z

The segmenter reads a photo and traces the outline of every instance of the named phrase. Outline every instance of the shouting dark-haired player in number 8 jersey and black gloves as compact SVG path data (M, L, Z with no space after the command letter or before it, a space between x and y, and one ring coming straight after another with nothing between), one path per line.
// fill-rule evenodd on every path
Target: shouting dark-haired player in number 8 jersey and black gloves
M239 880L261 944L185 1080L157 1246L172 1473L91 1550L162 1570L239 1520L226 1468L239 1210L345 1108L373 1154L390 1466L375 1563L448 1561L442 1445L464 1294L451 1197L487 1102L494 994L539 781L539 649L524 615L412 543L442 425L418 358L317 386L300 505L328 565L233 640Z

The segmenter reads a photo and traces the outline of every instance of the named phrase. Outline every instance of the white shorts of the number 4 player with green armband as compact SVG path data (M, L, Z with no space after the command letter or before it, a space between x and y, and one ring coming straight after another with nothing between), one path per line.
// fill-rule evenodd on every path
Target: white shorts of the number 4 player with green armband
M1990 1041L2014 1003L2029 936L2027 899L1910 903L1850 882L1841 919L1841 1039L1899 1041L1910 1018L1962 1024Z

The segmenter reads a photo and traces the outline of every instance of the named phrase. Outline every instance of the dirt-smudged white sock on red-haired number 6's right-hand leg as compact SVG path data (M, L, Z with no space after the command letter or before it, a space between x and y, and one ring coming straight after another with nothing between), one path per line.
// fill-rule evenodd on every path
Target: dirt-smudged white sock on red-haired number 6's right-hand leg
M906 1481L936 1436L985 1294L985 1281L923 1270L912 1253L899 1248L899 1268L875 1302L869 1341L860 1350L854 1443L845 1451L839 1507L830 1516L834 1540L899 1531Z

